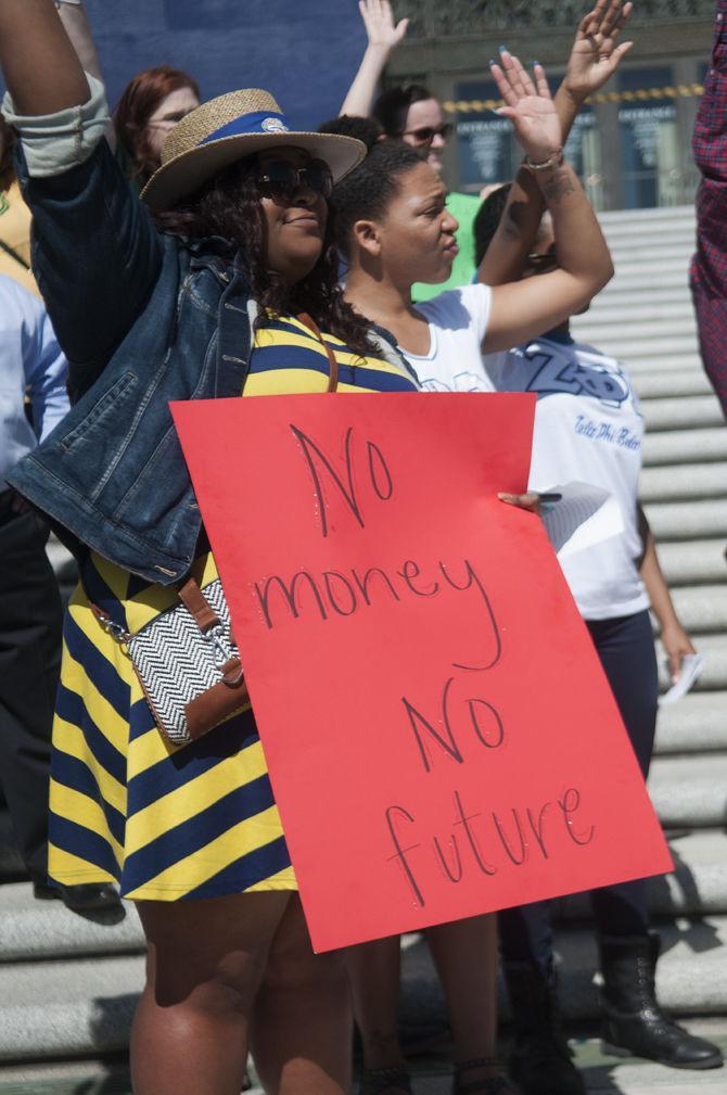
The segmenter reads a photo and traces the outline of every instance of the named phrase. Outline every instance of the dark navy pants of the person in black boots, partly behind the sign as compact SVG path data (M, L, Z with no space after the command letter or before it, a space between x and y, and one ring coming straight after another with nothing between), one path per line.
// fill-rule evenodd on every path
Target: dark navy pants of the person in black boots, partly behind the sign
M611 690L619 704L644 777L648 774L658 696L654 638L648 612L613 620L586 621ZM645 935L648 930L646 883L637 879L591 890L599 935ZM553 935L547 901L499 913L503 958L528 961L553 979Z

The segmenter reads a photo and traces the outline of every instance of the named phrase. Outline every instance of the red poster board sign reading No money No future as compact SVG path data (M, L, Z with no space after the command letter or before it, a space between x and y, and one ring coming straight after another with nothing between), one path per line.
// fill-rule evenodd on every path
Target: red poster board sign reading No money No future
M528 395L173 405L313 945L671 869L538 518Z

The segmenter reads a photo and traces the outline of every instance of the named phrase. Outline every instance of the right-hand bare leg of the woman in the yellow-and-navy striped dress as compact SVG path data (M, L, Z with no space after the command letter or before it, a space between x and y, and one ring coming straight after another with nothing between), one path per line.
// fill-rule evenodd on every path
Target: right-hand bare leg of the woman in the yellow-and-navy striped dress
M251 1027L268 1095L347 1095L351 1026L343 955L313 954L295 895L270 946Z

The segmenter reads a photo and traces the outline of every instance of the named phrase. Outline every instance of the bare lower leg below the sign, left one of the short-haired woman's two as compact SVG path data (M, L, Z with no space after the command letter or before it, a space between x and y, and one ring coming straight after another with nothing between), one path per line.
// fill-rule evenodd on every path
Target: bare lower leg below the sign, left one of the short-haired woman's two
M346 968L354 1015L361 1033L367 1069L400 1068L404 1063L399 1045L399 935L362 943L346 950ZM395 1095L396 1088L391 1093Z

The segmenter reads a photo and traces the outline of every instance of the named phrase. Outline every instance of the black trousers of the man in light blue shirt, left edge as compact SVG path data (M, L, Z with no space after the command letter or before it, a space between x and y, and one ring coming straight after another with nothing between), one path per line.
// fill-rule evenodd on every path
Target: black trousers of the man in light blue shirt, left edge
M0 494L0 787L33 878L47 875L50 729L62 608L34 512Z

